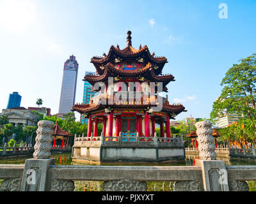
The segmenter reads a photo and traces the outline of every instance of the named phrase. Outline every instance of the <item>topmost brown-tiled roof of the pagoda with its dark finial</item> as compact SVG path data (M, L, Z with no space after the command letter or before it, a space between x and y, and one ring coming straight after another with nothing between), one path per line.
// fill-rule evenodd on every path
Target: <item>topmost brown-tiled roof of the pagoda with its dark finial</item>
M140 45L138 50L133 48L131 42L131 31L127 31L127 46L123 50L119 48L119 45L116 47L112 45L109 49L108 55L103 54L102 57L92 57L91 62L97 69L97 73L102 75L104 73L104 69L102 69L102 67L106 66L109 62L114 63L116 59L143 59L143 61L150 62L150 64L156 67L156 69L154 69L154 73L156 73L156 75L161 74L164 64L167 62L166 57L155 57L154 52L150 54L147 45L144 45L143 47Z

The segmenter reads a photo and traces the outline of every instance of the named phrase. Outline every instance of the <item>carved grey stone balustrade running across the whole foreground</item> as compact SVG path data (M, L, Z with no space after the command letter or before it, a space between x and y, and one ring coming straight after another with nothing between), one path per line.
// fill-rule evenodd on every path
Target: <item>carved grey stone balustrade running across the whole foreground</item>
M38 124L37 152L34 159L25 165L1 164L1 191L74 191L74 180L103 180L103 191L147 191L147 181L169 180L175 182L175 191L248 191L248 180L256 180L256 166L225 166L216 160L211 147L211 138L202 136L204 147L195 166L60 166L48 148L40 149L44 128L53 124L40 121ZM207 132L209 123L200 122L198 131ZM203 128L204 130L200 130ZM206 130L205 130L206 129ZM208 132L209 133L209 132ZM200 134L198 134L200 138ZM210 143L210 144L208 144ZM37 159L40 155L43 159ZM206 159L204 159L206 157Z

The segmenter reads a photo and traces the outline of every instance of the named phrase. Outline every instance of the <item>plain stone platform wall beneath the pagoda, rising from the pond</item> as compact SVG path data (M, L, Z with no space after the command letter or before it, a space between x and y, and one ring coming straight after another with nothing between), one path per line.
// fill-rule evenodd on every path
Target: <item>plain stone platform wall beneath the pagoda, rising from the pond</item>
M74 145L72 161L86 164L170 164L184 161L184 147Z

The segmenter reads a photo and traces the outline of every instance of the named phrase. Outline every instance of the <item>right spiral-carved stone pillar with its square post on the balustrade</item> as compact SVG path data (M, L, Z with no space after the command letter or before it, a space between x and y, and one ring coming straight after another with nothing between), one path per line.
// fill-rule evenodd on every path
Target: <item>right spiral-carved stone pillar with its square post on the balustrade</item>
M195 126L200 157L196 166L202 169L204 191L229 191L225 162L216 160L211 122L200 121Z

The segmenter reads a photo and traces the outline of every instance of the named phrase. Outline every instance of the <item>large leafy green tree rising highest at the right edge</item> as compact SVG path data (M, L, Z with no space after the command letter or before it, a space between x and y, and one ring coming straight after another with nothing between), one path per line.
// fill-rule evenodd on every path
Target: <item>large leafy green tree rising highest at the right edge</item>
M213 103L211 120L226 113L239 113L249 119L256 119L256 54L241 59L228 69L221 85L221 95Z

